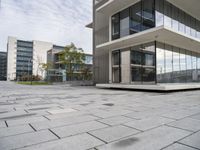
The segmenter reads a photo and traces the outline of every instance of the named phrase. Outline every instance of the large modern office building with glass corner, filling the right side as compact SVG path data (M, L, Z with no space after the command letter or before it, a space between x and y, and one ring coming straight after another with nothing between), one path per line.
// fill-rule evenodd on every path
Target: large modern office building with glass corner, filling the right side
M200 82L198 0L94 0L95 83Z

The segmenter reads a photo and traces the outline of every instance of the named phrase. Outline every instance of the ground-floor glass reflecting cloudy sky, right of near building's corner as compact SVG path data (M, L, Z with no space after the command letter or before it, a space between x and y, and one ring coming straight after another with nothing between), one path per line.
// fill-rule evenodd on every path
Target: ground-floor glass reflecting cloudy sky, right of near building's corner
M158 83L200 82L200 54L160 42L156 45Z

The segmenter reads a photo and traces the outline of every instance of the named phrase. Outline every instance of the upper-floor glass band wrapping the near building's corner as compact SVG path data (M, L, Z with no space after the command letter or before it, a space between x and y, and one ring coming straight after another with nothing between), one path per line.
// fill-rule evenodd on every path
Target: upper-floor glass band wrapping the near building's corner
M200 21L167 0L141 0L111 20L112 40L162 25L200 39Z

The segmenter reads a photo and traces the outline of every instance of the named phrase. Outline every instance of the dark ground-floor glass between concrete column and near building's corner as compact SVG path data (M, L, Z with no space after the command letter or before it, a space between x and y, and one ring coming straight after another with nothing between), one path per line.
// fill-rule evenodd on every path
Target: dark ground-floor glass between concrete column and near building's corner
M155 42L131 47L131 82L155 84Z

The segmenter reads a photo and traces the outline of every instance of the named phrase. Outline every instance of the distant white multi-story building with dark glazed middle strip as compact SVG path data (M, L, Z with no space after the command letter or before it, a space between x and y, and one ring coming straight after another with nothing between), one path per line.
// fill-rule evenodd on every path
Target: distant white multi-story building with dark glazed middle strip
M8 37L7 80L16 80L23 75L45 77L41 64L47 62L47 51L53 44L42 41L23 41Z

